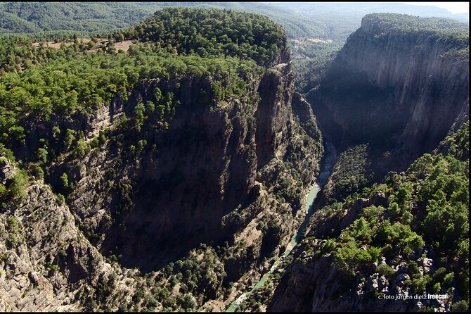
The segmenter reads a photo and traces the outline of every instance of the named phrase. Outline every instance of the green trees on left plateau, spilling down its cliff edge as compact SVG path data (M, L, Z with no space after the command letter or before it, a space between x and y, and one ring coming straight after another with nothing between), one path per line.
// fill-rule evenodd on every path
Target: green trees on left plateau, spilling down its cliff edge
M160 25L160 18L165 23L175 23L160 32L146 30L155 39L161 36L169 38L169 42L161 45L153 40L135 41L127 51L116 51L112 34L106 41L92 37L89 44L75 37L73 43L58 48L41 43L33 45L30 39L19 37L1 41L0 51L5 53L1 54L0 60L1 156L12 161L16 159L30 176L52 184L63 201L64 196L68 198L77 187L80 178L77 173L82 175L83 171L89 171L83 161L96 157L100 151L116 153L112 161L115 168L123 162L131 165L140 156L157 158L160 146L167 142L170 145L175 138L169 136L162 140L157 136L170 129L172 119L181 111L207 111L216 115L214 110L231 109L229 102L240 101L238 116L252 115L252 106L258 101L257 95L252 93L254 84L265 70L262 65L257 65L257 61L263 64L279 57L280 49L285 49L284 34L277 32L279 42L272 42L273 37L270 37L271 42L266 45L267 48L276 46L278 50L258 51L256 43L249 44L253 38L247 36L238 41L240 46L214 48L220 49L217 54L214 49L214 54L205 56L195 51L179 51L181 43L171 40L172 27L193 21L191 28L181 29L178 33L188 42L195 42L196 38L212 36L209 29L204 34L206 37L193 32L194 25L200 30L202 25L208 25L211 14L219 13L201 9L162 10L142 25ZM257 26L257 30L253 30L257 36L264 36L274 29L281 30L259 15L233 11L221 14L233 18L233 23L245 21L238 30L246 34L252 34L250 27L253 25ZM131 36L134 28L128 32ZM257 40L264 43L261 37ZM214 40L210 42L218 44ZM247 57L249 55L251 58ZM181 88L181 84L196 90ZM136 94L144 94L147 98L138 96L136 99ZM187 108L179 108L183 106L182 99L186 99ZM115 110L115 103L121 103L122 112L112 115L105 130L91 134L90 122L103 112L108 116L109 111ZM253 120L253 116L250 118ZM184 130L182 139L186 132L191 130ZM193 132L195 139L206 136L201 133L201 130ZM8 203L20 195L27 184L22 179L27 177L26 172L18 171L15 180L2 184L0 201ZM172 180L178 178L178 174L172 174ZM104 194L117 195L122 201L105 219L105 228L112 222L120 224L124 217L122 213L129 213L129 208L134 205L135 184L131 180L118 180L115 169L106 171L100 188ZM93 244L98 241L99 234L89 225L80 227Z

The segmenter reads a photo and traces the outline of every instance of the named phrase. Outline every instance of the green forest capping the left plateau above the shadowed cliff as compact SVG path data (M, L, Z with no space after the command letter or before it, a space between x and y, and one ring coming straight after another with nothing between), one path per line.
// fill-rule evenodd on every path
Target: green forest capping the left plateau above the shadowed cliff
M32 127L44 125L50 128L64 119L80 120L83 117L90 117L98 108L108 105L116 97L126 101L131 90L143 80L148 79L168 81L178 80L183 76L209 77L211 90L205 91L211 97L208 99L209 106L226 101L233 96L242 99L247 95L247 86L252 84L264 70L254 59L246 58L246 56L259 58L257 60L268 60L264 57L276 57L265 54L259 56L255 52L257 51L255 42L252 45L245 42L242 42L240 46L236 44L238 49L232 51L224 49L221 42L214 40L211 41L214 45L212 51L214 52L214 49L219 47L217 54L198 54L198 51L193 50L180 53L178 49L187 46L180 46L179 42L175 42L172 39L174 33L181 34L180 39L185 43L195 42L198 40L195 38L202 37L200 33L185 34L183 39L182 33L176 31L178 29L176 25L204 24L205 20L202 20L202 16L209 19L209 16L219 15L216 10L202 9L170 8L159 12L163 15L166 13L174 15L174 18L169 19L169 23L174 23L175 25L171 25L175 28L169 28L170 26L167 25L165 30L152 34L167 38L169 42L167 44L136 42L129 47L127 52L116 51L112 34L108 36L106 45L98 46L98 39L93 37L88 44L79 42L79 39L75 38L73 44L61 45L58 49L41 44L33 46L30 39L20 37L1 40L0 144L12 151L17 151L19 147L25 145L25 139ZM238 27L240 32L246 34L252 34L249 29L252 30L254 25L257 32L260 32L257 36L264 36L266 32L270 32L270 27L280 30L280 27L264 18L260 20L263 20L268 28L257 27L259 24L254 21L259 15L233 11L224 11L221 14L221 16L230 15L233 23L236 23L239 18L241 20L250 18L247 23ZM186 18L185 22L183 22L183 15ZM148 25L151 27L151 24ZM209 32L207 29L205 31ZM122 33L114 35L119 37L120 34L122 35ZM280 36L275 46L285 43L281 30ZM220 39L223 40L222 38L224 38L223 35ZM267 41L271 42L273 37L269 36L267 41L257 37L258 39L264 44ZM207 48L210 46L211 44L206 45ZM279 53L279 50L277 51ZM271 53L274 54L273 51ZM173 96L159 94L155 96L153 103L146 104L149 108L155 108L155 115L160 117L156 119L167 127L170 122L167 113L171 111L174 113L174 107L178 103L178 99L173 99ZM144 104L138 103L134 106L136 106L136 112L141 112ZM142 121L137 124L141 125ZM61 153L84 151L86 148L81 130L49 131L51 136L56 138L56 142L59 140L63 144L48 145L44 139L35 139L35 141L43 142L28 142L28 146L34 149L38 147L38 155L31 156L31 161L37 162L40 166L50 165ZM67 134L64 133L65 131ZM77 147L71 146L72 143L76 143ZM73 156L82 155L82 153L73 154ZM30 161L30 158L27 158L27 161Z

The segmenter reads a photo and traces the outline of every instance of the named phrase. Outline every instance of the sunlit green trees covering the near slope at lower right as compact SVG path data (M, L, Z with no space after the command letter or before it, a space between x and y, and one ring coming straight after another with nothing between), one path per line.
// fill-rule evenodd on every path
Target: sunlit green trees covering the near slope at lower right
M384 277L382 288L366 291L366 300L387 294L448 294L448 310L466 310L468 127L469 121L406 173L392 172L360 196L318 211L302 244L304 257L313 256L314 263L333 258L344 275L344 292L361 293L356 291L361 282L368 287L375 273Z

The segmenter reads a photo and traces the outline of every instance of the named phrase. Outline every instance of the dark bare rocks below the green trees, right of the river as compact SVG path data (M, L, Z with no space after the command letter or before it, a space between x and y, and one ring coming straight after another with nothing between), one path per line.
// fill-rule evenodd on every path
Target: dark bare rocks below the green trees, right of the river
M418 299L405 284L413 277L408 266L411 262L417 265L420 278L433 277L437 272L434 261L423 257L430 253L427 249L411 258L398 256L386 260L380 256L378 263L351 274L340 270L334 253L325 253L326 239L338 237L343 230L351 228L352 222L370 206L387 206L387 196L377 191L368 199L356 199L349 208L339 209L335 215L325 211L314 214L267 311L396 312L419 311L425 306L439 311L450 309L453 298L450 294L443 294L444 299ZM389 268L390 273L386 275L384 268Z

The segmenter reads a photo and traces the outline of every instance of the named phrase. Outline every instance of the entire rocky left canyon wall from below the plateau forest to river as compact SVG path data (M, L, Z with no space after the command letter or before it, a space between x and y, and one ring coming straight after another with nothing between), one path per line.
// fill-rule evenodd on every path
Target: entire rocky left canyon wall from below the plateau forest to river
M91 114L29 121L15 156L33 160L39 139L60 156L44 181L0 160L2 308L224 310L269 268L305 215L323 154L309 103L292 110L284 36L276 47L261 75L238 74L243 95L217 96L228 73L143 78ZM183 279L179 258L195 266Z

